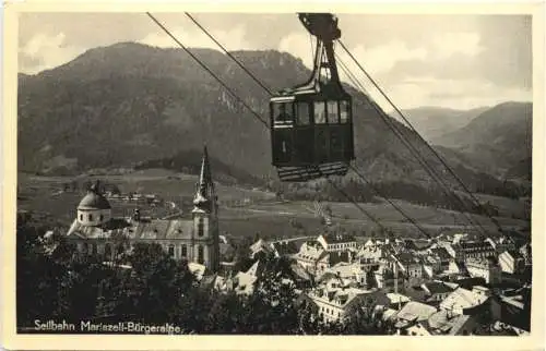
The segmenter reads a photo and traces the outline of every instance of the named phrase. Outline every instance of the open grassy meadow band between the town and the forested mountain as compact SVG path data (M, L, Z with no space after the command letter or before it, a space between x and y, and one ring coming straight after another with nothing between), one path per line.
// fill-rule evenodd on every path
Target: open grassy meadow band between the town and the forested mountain
M80 175L73 177L36 177L20 173L17 209L50 214L61 226L69 226L75 218L75 207L85 192L63 191L63 184L75 181L84 184L95 181L116 184L122 194L139 192L156 194L166 202L176 204L176 208L167 204L152 207L145 203L110 201L115 216L129 216L139 207L146 216L162 218L177 214L180 209L186 216L191 211L191 201L198 182L197 175L175 173L167 170L144 170L127 174ZM232 237L293 238L314 235L324 231L320 216L314 211L312 202L278 201L275 194L258 189L226 186L216 183L219 202L221 232ZM482 195L479 195L482 196ZM485 195L484 195L485 196ZM513 214L523 211L523 203L502 197L480 197L490 201L499 208L501 217L497 220L506 228L521 228L529 225L524 220L512 218ZM467 217L480 223L485 229L496 232L489 218L459 211L418 206L404 201L393 201L408 217L413 218L429 233L436 235L440 231L464 231L468 229ZM334 226L344 228L357 237L369 237L378 232L379 227L352 203L324 203L330 206ZM400 237L424 237L424 234L385 201L359 204L381 226L391 229Z

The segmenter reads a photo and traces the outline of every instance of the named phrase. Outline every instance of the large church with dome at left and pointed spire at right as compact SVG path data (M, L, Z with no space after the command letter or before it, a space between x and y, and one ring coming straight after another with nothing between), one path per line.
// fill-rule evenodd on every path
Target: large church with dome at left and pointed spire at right
M204 148L191 218L144 218L136 209L131 218L114 218L108 199L94 184L78 205L67 238L81 254L99 254L106 261L135 243L157 243L175 259L202 264L210 271L219 266L218 208Z

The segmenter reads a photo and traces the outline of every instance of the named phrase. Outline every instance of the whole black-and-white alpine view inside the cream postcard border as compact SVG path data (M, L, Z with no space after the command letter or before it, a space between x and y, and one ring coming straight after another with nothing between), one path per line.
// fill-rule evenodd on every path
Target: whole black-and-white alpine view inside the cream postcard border
M16 335L542 332L533 14L239 10L17 14Z

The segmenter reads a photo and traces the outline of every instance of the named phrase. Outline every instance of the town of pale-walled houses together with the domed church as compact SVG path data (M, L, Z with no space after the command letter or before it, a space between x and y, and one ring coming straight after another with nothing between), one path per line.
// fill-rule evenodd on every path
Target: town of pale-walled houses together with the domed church
M186 261L200 289L240 298L256 293L257 282L268 277L269 261L284 259L288 269L282 285L294 290L294 303L308 308L313 320L343 325L368 308L389 326L383 334L530 332L531 242L518 233L484 238L451 232L427 239L390 234L363 241L327 218L314 237L256 238L236 250L237 244L218 232L206 148L191 218L150 218L138 208L128 218L112 218L99 189L90 187L72 226L60 233L80 256L98 256L104 264L131 270L130 264L115 263L114 257L152 242L174 261ZM49 253L56 251L58 235L44 235Z

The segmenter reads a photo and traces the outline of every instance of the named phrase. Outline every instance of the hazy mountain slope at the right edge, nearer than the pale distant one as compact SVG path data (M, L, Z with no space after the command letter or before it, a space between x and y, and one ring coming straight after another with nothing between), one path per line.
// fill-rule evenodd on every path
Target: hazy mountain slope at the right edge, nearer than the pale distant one
M482 171L501 178L519 174L530 179L530 172L524 170L530 170L532 117L532 102L499 104L432 142L465 155Z

